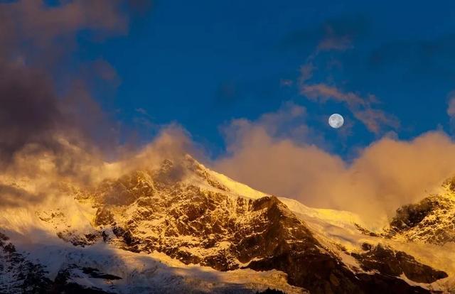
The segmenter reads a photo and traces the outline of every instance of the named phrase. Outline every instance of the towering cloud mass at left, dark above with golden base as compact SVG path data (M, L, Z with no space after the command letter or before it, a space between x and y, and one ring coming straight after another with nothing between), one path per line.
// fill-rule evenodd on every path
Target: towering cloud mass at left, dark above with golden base
M83 63L73 55L77 35L100 40L127 33L129 18L146 2L0 3L1 206L33 204L59 190L61 181L88 184L102 174L102 146L116 141L115 124L105 119L85 77L77 75L80 69L72 68ZM91 63L85 72L118 82L107 62ZM121 148L117 142L109 146Z

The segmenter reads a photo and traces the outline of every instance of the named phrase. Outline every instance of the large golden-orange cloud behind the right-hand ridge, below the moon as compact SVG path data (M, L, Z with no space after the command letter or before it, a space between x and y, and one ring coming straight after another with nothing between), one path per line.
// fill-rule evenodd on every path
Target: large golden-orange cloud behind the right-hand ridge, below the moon
M385 136L350 163L309 140L270 131L264 119L235 120L225 131L228 155L213 162L215 170L264 192L369 221L391 217L455 173L455 143L439 131L411 141Z

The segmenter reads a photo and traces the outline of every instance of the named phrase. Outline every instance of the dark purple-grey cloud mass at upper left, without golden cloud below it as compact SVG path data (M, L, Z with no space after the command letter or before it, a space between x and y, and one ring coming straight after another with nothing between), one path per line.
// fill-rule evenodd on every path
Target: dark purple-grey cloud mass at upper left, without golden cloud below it
M111 142L116 129L92 98L85 77L70 73L70 64L75 61L71 53L77 50L76 36L81 31L94 36L127 33L131 13L145 9L148 2L62 0L48 5L46 1L19 0L0 3L2 168L24 150L68 155L64 142L88 150L88 142ZM117 72L105 60L92 62L90 67L100 80L114 86L119 84ZM55 86L63 80L66 84L62 94ZM55 164L62 165L64 171L73 165L59 157L55 158Z

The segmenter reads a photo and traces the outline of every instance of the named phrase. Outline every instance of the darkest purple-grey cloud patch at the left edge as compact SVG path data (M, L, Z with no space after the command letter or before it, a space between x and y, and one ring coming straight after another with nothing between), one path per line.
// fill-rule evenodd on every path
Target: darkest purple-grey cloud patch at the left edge
M1 62L0 77L0 159L31 142L51 147L66 121L45 73Z

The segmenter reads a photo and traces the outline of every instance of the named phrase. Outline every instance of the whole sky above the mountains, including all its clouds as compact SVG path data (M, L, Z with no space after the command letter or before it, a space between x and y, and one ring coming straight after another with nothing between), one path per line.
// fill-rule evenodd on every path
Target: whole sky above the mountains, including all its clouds
M89 185L106 162L191 153L269 194L390 217L455 175L454 13L451 1L0 1L0 184Z

